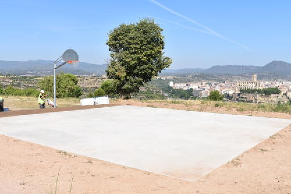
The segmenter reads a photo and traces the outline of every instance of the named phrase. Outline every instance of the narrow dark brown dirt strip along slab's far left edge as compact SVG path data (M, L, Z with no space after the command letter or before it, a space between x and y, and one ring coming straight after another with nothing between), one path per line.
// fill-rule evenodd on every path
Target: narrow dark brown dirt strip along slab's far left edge
M13 110L13 111L7 111L7 112L0 112L0 118L27 115L27 114L41 114L41 113L63 112L63 111L71 111L71 110L85 110L85 109L111 107L111 106L119 106L119 104L113 103L113 104L104 104L104 105L70 106L70 107L32 109L32 110Z

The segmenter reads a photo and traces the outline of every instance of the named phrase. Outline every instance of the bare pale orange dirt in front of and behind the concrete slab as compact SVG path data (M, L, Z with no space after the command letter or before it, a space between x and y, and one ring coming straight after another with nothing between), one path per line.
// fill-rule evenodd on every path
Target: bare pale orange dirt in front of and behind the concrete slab
M182 105L173 104L164 107L165 105L161 103L147 104L134 100L120 100L117 103L183 109ZM184 107L186 110L188 108ZM221 109L221 107L215 108ZM216 111L216 109L205 110L205 112ZM225 113L291 118L290 114L273 112L230 110ZM76 194L291 194L291 125L193 183L66 153L3 135L0 135L0 147L2 148L0 149L0 194L55 193L56 188L56 193Z

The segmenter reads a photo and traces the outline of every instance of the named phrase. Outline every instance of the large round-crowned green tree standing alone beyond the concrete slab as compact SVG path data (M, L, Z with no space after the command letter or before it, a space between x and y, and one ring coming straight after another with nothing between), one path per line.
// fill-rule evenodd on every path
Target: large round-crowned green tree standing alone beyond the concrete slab
M163 29L152 19L121 24L109 32L110 61L107 76L116 83L116 91L125 98L138 92L143 83L158 76L172 63L163 56Z

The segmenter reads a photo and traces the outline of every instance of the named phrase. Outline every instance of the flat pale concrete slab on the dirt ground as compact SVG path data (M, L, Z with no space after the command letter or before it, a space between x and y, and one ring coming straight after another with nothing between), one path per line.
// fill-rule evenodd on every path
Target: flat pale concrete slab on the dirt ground
M0 118L0 134L195 181L291 120L115 106Z

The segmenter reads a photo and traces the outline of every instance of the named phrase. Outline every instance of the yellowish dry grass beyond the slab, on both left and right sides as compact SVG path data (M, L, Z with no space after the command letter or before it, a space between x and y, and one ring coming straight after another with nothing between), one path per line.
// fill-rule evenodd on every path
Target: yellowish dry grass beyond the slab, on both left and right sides
M3 96L5 99L4 107L10 110L27 110L27 109L38 109L38 99L33 97L22 97L22 96ZM51 99L52 100L52 99ZM280 112L280 113L291 113L291 106L287 105L272 105L272 104L254 104L254 103L234 103L234 102L215 102L210 100L125 100L127 103L130 102L147 104L148 107L167 107L175 108L181 105L182 110L192 111L206 111L206 112L217 112L217 110L225 111L263 111L263 112ZM120 103L123 100L111 100L111 102ZM80 105L80 99L78 98L60 98L57 99L58 107L68 107ZM124 103L121 103L124 104ZM173 107L175 105L175 107ZM178 109L180 109L178 107Z

